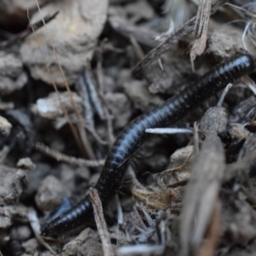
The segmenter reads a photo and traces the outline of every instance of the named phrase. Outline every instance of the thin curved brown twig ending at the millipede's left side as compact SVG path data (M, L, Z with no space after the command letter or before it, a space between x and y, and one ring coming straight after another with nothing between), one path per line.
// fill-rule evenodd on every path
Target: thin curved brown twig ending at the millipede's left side
M80 158L75 158L73 156L68 156L67 154L61 154L60 152L47 147L44 143L36 143L36 149L40 152L49 155L57 161L67 162L76 166L86 166L86 167L99 167L104 166L105 160L84 160Z

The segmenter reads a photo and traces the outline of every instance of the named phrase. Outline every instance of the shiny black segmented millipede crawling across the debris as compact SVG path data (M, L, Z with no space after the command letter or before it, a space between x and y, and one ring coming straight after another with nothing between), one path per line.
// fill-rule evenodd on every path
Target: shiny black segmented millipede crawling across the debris
M120 188L129 158L147 138L146 129L163 127L177 119L182 119L218 90L224 89L227 84L243 75L252 73L255 68L256 62L253 56L247 54L235 56L229 61L212 67L199 79L181 90L177 96L173 96L162 106L144 113L127 125L109 150L105 166L96 183L103 206L116 195ZM72 230L86 223L91 216L92 206L87 195L79 204L47 224L42 235L54 236Z

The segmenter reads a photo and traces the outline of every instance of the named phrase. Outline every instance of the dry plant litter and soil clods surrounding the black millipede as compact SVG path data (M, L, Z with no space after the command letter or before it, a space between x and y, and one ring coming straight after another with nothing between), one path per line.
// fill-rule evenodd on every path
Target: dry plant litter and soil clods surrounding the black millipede
M256 57L255 9L0 0L0 255L253 256L255 73L148 133L108 207L90 187L132 119L218 62ZM95 220L40 235L88 194Z

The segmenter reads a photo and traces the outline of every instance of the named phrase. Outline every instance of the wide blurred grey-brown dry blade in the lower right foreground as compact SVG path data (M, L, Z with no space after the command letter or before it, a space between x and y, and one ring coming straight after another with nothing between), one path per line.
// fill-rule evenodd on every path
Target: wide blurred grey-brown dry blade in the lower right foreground
M214 212L224 176L224 148L216 134L209 134L192 167L183 199L180 226L181 256L198 253Z

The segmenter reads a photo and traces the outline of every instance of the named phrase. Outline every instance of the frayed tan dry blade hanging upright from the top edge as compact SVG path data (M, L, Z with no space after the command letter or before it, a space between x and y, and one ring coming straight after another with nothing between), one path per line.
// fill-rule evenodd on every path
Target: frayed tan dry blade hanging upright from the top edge
M195 72L195 57L201 55L207 46L207 28L211 15L211 1L201 0L195 20L195 43L190 51L192 70Z

